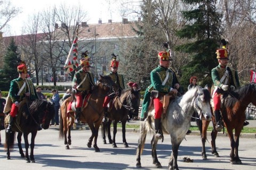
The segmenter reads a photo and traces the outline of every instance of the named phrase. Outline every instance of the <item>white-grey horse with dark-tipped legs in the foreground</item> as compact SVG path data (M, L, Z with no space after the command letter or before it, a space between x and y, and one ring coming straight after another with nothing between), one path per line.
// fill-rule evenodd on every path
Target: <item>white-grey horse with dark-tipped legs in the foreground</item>
M170 134L172 142L172 154L169 160L169 169L179 169L177 164L178 149L190 127L190 118L193 113L196 111L201 119L211 119L210 99L211 95L209 90L201 89L197 86L197 88L187 91L185 95L177 97L170 102L166 116L162 117L162 130L164 134ZM151 140L153 164L158 168L162 167L161 163L158 162L156 154L158 139L155 138L153 123L154 115L154 106L151 106L147 118L140 122L140 138L136 155L137 167L141 167L140 155L142 154L145 145L147 132L150 130L153 130L154 132L153 139Z

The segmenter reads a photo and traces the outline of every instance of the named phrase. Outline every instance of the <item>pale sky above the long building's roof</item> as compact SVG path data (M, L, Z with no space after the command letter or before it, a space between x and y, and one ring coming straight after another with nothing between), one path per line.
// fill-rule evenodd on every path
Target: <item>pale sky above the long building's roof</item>
M15 6L22 8L22 13L13 18L9 22L9 34L5 36L15 36L21 35L21 30L23 23L27 21L28 16L42 11L44 8L53 5L59 5L61 3L66 3L71 5L73 3L79 2L84 10L87 11L89 20L87 23L98 23L101 19L102 23L108 22L109 19L112 22L122 21L122 16L118 9L117 3L108 3L106 0L10 0ZM110 12L111 11L111 12ZM3 31L4 32L4 31ZM7 32L6 32L7 34Z

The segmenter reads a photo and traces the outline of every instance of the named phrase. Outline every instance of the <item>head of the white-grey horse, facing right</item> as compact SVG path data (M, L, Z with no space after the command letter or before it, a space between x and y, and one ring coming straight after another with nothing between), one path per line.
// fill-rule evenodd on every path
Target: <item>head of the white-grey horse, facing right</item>
M194 109L199 114L200 119L210 120L211 114L211 95L208 89L197 86L196 99L194 100ZM204 116L204 117L203 117Z

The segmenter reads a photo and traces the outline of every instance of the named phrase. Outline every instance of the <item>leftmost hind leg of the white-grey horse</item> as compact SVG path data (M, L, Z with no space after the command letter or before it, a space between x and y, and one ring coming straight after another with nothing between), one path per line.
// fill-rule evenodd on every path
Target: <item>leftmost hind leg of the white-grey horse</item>
M141 167L141 162L140 162L140 155L142 154L143 148L145 146L145 141L146 141L146 135L147 135L147 131L145 128L146 123L145 122L141 122L140 123L140 137L139 137L139 141L138 141L138 148L137 148L137 153L136 153L136 167L140 168Z

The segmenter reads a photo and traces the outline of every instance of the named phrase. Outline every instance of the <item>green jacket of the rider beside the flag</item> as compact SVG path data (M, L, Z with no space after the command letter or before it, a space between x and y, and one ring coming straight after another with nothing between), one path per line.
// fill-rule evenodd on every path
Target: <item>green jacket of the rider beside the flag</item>
M85 80L84 77L86 76ZM73 87L77 83L79 85L82 81L84 82L77 88L79 91L91 90L95 86L94 77L91 72L85 72L83 69L77 71L73 78Z

